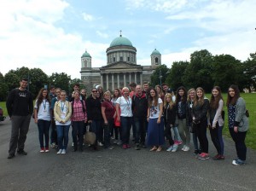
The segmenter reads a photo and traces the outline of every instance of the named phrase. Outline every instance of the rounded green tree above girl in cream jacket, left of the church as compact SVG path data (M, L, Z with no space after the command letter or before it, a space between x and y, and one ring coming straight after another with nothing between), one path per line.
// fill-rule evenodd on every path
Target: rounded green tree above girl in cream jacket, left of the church
M56 88L61 88L61 90L66 90L67 95L70 93L70 76L67 76L67 73L61 72L61 73L52 73L51 76L49 76L49 85L55 85Z

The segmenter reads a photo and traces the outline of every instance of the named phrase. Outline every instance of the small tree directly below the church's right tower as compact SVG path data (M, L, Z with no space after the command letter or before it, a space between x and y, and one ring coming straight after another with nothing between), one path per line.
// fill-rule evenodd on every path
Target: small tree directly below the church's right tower
M166 78L168 76L169 68L166 65L161 65L156 67L153 74L151 75L151 86L155 86L157 84L161 84L166 82Z

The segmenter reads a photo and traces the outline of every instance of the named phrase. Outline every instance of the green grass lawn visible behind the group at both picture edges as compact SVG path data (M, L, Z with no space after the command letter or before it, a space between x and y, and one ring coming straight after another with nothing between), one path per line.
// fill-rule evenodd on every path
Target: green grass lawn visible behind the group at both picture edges
M207 94L207 98L211 95ZM223 94L224 103L227 100L227 94ZM247 109L249 110L249 130L247 131L246 143L248 148L253 148L256 150L256 94L241 94L241 97L246 101ZM7 116L7 110L5 107L5 102L0 102L0 107L3 108L3 113ZM230 132L228 130L228 112L227 107L224 106L225 111L225 124L224 124L224 136L230 137Z

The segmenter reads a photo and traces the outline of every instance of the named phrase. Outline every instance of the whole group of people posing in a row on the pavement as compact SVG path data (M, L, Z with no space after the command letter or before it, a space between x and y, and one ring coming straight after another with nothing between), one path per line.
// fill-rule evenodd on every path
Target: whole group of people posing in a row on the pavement
M102 86L98 86L87 97L86 90L79 90L79 84L75 84L70 97L60 88L51 87L50 93L46 89L40 90L33 107L32 95L26 90L26 85L27 79L21 79L20 88L10 91L6 102L12 120L8 159L15 157L17 147L17 153L27 154L24 142L31 115L38 124L41 153L49 152L50 142L52 148L58 149L58 154L65 154L70 126L73 128L73 151L82 152L84 134L89 125L90 131L96 135L96 142L90 145L92 149L97 150L99 146L113 149L113 144L121 145L123 149L131 148L132 127L136 150L150 147L150 152L160 152L167 140L166 151L176 152L181 148L188 152L192 136L193 154L197 159L209 159L209 129L217 150L212 159L224 159L224 99L218 86L212 88L212 96L207 99L201 87L187 91L181 86L175 95L165 83L155 88L150 88L148 83L143 86L131 83L130 89L114 89L113 96L110 90L103 92ZM230 135L237 153L232 164L244 165L248 118L245 101L236 85L231 85L228 90L226 107Z

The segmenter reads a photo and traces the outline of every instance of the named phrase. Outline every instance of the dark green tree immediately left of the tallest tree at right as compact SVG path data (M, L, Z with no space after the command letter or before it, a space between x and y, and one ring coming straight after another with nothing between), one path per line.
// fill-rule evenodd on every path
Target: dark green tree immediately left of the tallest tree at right
M175 61L172 64L172 68L166 78L166 83L172 87L172 89L177 90L179 86L184 86L183 76L186 68L189 66L188 61Z

